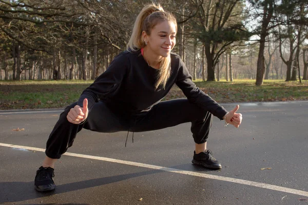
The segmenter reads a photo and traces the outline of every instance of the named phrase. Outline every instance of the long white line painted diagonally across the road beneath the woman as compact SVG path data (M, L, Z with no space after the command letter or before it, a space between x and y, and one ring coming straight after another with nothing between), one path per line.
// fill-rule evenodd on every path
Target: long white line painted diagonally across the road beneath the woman
M38 152L45 152L45 149L34 148L34 147L10 145L10 144L3 144L3 143L0 143L0 146L9 147L9 148L16 148L16 149L26 149L26 150L32 150L32 151L38 151ZM259 183L259 182L255 182L255 181L248 181L248 180L242 180L242 179L236 179L236 178L230 178L230 177L224 177L224 176L204 174L204 173L199 173L199 172L184 171L184 170L172 169L172 168L167 168L167 167L148 165L146 163L125 161L125 160L112 159L112 158L106 158L106 157L91 156L91 155L85 155L85 154L75 154L75 153L67 152L63 155L73 156L73 157L81 157L81 158L87 158L87 159L96 159L96 160L101 160L101 161L109 161L109 162L121 163L123 165L144 167L144 168L148 168L148 169L162 170L162 171L166 171L166 172L186 174L186 175L190 175L190 176L198 176L198 177L203 177L203 178L208 178L208 179L216 179L216 180L221 180L221 181L234 182L234 183L239 183L241 185L249 185L249 186L253 186L253 187L259 187L259 188L270 189L270 190L274 190L274 191L286 192L286 193L291 193L291 194L296 194L296 195L308 197L308 192L305 192L305 191L290 189L290 188L285 188L285 187L279 187L279 186L275 186L275 185L268 185L266 183Z

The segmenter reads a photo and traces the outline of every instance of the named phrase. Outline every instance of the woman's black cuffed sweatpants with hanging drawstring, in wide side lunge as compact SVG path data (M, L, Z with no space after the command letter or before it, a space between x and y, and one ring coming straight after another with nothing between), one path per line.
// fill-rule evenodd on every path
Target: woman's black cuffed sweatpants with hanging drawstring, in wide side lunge
M76 103L66 107L56 122L46 145L46 155L59 159L73 145L76 134L83 128L96 132L145 132L191 122L191 132L197 144L206 142L213 115L191 104L187 99L174 99L158 103L147 112L131 113L114 108L103 101L94 104L82 124L70 123L66 116Z

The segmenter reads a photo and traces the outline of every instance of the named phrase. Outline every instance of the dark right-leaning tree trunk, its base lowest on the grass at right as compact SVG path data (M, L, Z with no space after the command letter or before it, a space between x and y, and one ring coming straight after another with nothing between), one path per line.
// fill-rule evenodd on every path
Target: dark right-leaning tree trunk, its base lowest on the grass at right
M265 62L264 62L264 47L265 47L265 38L267 36L267 27L269 21L273 15L273 1L265 1L263 7L263 19L262 19L262 28L260 34L260 47L257 61L257 76L256 76L256 86L261 86L263 84L263 77L265 71ZM267 10L268 6L268 10Z

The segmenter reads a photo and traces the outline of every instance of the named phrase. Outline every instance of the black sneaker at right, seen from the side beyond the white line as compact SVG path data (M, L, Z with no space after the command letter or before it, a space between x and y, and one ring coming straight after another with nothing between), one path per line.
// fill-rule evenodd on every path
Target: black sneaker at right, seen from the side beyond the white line
M215 159L210 150L196 154L194 151L194 159L191 161L195 165L201 165L211 169L221 169L221 164Z

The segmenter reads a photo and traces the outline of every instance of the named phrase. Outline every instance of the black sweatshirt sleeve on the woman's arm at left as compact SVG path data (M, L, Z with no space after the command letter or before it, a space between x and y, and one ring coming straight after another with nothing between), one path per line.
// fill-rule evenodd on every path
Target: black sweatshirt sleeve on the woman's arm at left
M108 69L82 92L77 105L83 107L83 100L87 98L88 109L91 110L99 99L108 97L108 95L111 95L120 88L121 82L127 74L128 67L129 59L127 55L120 53L111 61Z

